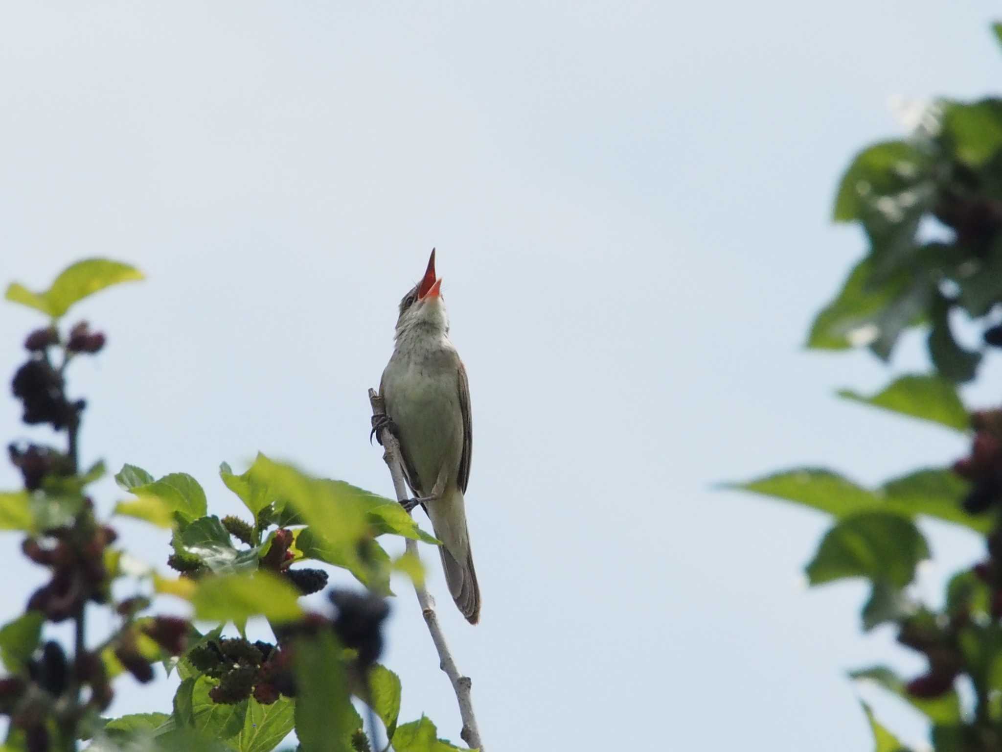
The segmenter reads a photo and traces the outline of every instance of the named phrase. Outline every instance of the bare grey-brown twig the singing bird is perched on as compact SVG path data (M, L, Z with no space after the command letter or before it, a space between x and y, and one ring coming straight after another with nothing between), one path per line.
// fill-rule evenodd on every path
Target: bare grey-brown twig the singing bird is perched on
M375 426L379 419L386 415L383 398L376 393L375 389L369 390L369 403L373 407L373 425ZM397 493L397 500L404 501L408 498L408 493L407 485L404 482L404 472L400 464L400 445L397 443L397 438L386 428L380 431L380 440L385 450L383 452L383 459L390 468L390 475L393 477L393 489ZM417 541L410 538L407 539L407 552L414 556L418 555ZM470 677L461 675L459 669L456 668L456 662L452 658L452 653L442 632L442 626L439 624L438 616L435 614L435 604L432 601L432 597L423 586L419 586L417 583L414 584L414 592L418 596L421 614L425 618L425 624L428 625L432 642L435 643L435 650L438 651L439 667L449 677L449 681L452 682L452 688L456 693L456 701L459 703L459 715L463 719L463 730L459 735L466 742L467 746L483 752L484 747L480 741L480 730L477 728L477 717L473 714L473 700L470 697L470 688L473 683L470 681Z

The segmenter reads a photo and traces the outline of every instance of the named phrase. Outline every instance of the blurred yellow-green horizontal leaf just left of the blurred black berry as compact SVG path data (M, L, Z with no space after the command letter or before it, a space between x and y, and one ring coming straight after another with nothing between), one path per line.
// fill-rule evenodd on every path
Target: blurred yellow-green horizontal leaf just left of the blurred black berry
M198 581L191 604L197 619L236 621L265 616L290 622L303 616L298 591L270 572L217 575Z

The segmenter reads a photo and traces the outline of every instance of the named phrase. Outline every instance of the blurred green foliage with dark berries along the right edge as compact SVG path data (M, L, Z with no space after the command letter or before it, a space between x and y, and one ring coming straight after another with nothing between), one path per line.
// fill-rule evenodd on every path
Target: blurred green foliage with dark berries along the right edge
M1002 42L1002 26L993 26ZM937 752L1002 749L1002 407L970 411L957 384L1002 347L1002 99L940 99L904 138L852 160L836 195L836 222L857 223L868 250L818 314L808 347L867 347L889 361L901 335L926 333L933 372L899 376L861 405L971 437L952 467L920 468L865 488L824 468L799 468L728 487L830 514L832 527L806 567L812 586L863 580L862 627L890 624L926 669L910 679L885 666L854 671L923 714ZM957 332L980 331L981 343ZM948 461L948 460L947 460ZM946 461L944 462L946 464ZM916 525L929 517L983 536L986 555L949 582L942 608L912 585L930 556ZM960 691L958 691L960 690ZM863 705L877 752L904 745Z

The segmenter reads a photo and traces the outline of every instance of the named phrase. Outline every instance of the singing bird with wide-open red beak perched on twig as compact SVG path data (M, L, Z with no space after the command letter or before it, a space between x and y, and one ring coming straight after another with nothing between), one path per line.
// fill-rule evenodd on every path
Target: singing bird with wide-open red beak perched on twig
M470 624L480 618L480 588L473 569L463 494L470 479L472 424L466 368L449 339L435 250L421 282L400 301L393 356L380 394L387 425L397 436L404 474L435 536L449 593ZM377 426L380 428L382 426ZM376 429L374 429L376 430Z

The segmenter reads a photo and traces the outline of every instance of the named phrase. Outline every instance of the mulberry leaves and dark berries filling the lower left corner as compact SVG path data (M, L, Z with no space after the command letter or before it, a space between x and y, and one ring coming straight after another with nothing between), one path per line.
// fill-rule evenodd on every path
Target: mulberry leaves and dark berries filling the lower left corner
M9 720L2 749L74 750L85 741L95 752L271 752L294 732L304 752L460 749L439 739L427 718L399 723L400 679L377 663L391 572L417 582L423 574L414 556L391 560L379 538L438 544L395 500L259 454L242 474L225 463L219 469L245 518L211 514L209 494L186 473L157 478L131 464L115 475L127 496L114 503L112 519L100 518L87 485L105 468L78 468L86 403L68 395L66 377L75 358L96 355L106 338L85 322L67 328L61 319L87 296L140 279L125 264L91 259L46 291L7 289L8 300L49 319L25 340L14 396L24 421L63 434L65 449L9 448L24 483L0 492L0 530L23 533L24 555L50 581L27 599L24 613L0 626L7 672L0 715ZM176 576L128 551L111 526L119 517L170 531L162 559ZM309 610L301 599L329 579L328 569L302 566L309 561L343 570L361 588L331 589L328 606ZM189 617L150 614L164 596L187 604ZM113 625L100 637L91 634L95 608L107 612L100 624ZM273 642L246 638L255 618L267 620ZM45 625L59 622L74 627L66 648L43 639ZM180 685L171 708L102 715L118 677L145 684L175 671ZM365 728L359 708L366 706L382 731L375 722Z

